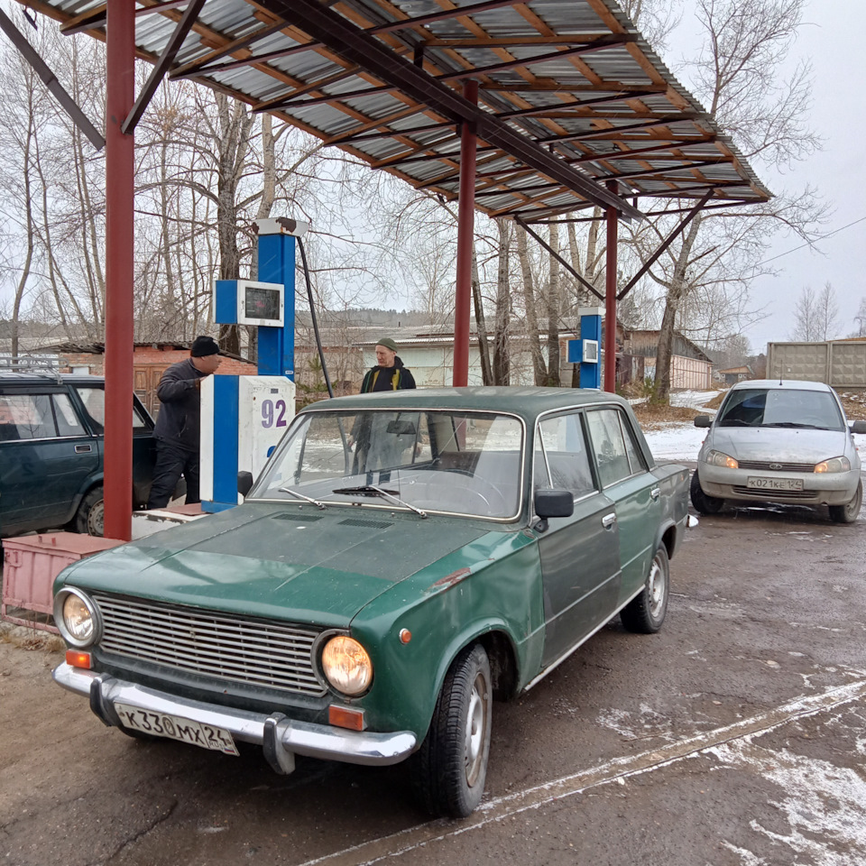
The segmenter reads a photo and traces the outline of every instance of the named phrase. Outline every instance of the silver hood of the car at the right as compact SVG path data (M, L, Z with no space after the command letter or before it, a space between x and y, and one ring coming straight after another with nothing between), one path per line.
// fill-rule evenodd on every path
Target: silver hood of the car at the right
M828 457L850 455L851 438L837 430L780 427L716 427L705 447L737 460L774 460L779 463L820 463Z

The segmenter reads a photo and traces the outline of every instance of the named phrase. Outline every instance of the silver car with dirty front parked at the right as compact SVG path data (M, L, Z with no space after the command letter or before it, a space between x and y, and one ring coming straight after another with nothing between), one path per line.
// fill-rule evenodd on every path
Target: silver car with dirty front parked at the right
M739 382L709 428L697 456L691 498L714 514L727 500L828 505L839 523L857 520L863 498L861 462L853 433L866 421L845 419L836 392L824 382L761 379Z

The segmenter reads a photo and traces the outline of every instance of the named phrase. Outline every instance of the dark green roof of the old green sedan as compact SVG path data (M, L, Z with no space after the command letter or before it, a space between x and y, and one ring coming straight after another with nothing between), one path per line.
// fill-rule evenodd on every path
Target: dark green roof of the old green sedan
M399 407L405 410L511 412L524 419L534 419L548 411L605 403L628 405L622 397L594 388L479 385L470 388L419 388L410 391L383 391L355 394L350 397L334 397L306 406L301 412L358 411Z

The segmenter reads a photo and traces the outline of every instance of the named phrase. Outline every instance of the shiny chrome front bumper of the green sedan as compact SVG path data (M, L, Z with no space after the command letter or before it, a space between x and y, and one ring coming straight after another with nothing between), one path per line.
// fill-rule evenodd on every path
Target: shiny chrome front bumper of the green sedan
M351 764L396 764L409 757L417 742L410 731L346 731L327 724L297 722L281 713L265 715L191 701L66 663L55 668L52 676L59 686L87 696L90 709L107 725L121 726L114 707L118 702L224 728L236 740L262 746L272 769L283 774L294 769L296 754Z

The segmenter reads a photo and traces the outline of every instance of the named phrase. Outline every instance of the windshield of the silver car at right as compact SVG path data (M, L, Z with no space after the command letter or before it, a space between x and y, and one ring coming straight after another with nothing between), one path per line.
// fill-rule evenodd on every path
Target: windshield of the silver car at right
M719 427L845 428L833 394L792 388L743 388L732 391L717 423Z

